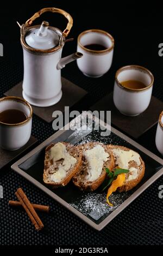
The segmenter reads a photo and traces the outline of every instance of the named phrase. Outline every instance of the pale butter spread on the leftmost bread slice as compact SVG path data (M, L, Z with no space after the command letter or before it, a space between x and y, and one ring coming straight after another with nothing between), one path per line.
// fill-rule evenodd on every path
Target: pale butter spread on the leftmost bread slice
M76 164L77 159L70 156L66 150L66 145L58 142L49 150L51 159L53 160L53 165L55 167L55 162L63 159L63 162L58 165L57 171L51 175L51 180L54 182L61 182L63 178L66 177L67 171L70 170L74 164Z

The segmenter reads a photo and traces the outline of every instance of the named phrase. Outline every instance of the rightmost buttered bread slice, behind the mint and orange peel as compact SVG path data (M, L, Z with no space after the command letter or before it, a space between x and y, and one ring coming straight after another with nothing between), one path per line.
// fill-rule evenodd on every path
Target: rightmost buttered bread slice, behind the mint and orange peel
M145 174L145 163L140 154L123 146L109 145L109 148L114 155L115 167L129 170L123 186L117 190L124 192L134 188Z

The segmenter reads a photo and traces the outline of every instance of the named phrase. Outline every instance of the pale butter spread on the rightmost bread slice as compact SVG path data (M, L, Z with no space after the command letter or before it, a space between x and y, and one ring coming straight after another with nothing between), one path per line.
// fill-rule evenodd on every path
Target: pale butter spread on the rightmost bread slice
M112 152L116 157L116 164L122 168L129 170L129 176L126 181L135 180L139 174L138 168L130 167L129 162L134 161L137 164L137 167L141 164L140 162L140 155L133 150L122 150L121 148L113 148Z

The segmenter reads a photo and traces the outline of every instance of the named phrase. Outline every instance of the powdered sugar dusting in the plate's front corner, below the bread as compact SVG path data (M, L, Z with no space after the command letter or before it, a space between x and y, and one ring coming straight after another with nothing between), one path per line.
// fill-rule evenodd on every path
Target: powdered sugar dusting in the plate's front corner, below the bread
M71 206L84 215L90 215L90 217L97 221L102 216L116 210L128 197L128 193L113 193L110 197L110 202L114 206L111 207L106 203L106 192L83 192L82 197L71 203Z

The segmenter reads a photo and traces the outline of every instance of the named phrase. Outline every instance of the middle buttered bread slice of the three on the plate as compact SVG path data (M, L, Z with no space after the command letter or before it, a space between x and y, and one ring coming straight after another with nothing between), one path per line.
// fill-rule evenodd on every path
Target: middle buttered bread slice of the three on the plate
M110 148L99 142L89 142L83 145L82 165L72 181L80 190L91 192L104 181L106 167L110 170L114 167Z

